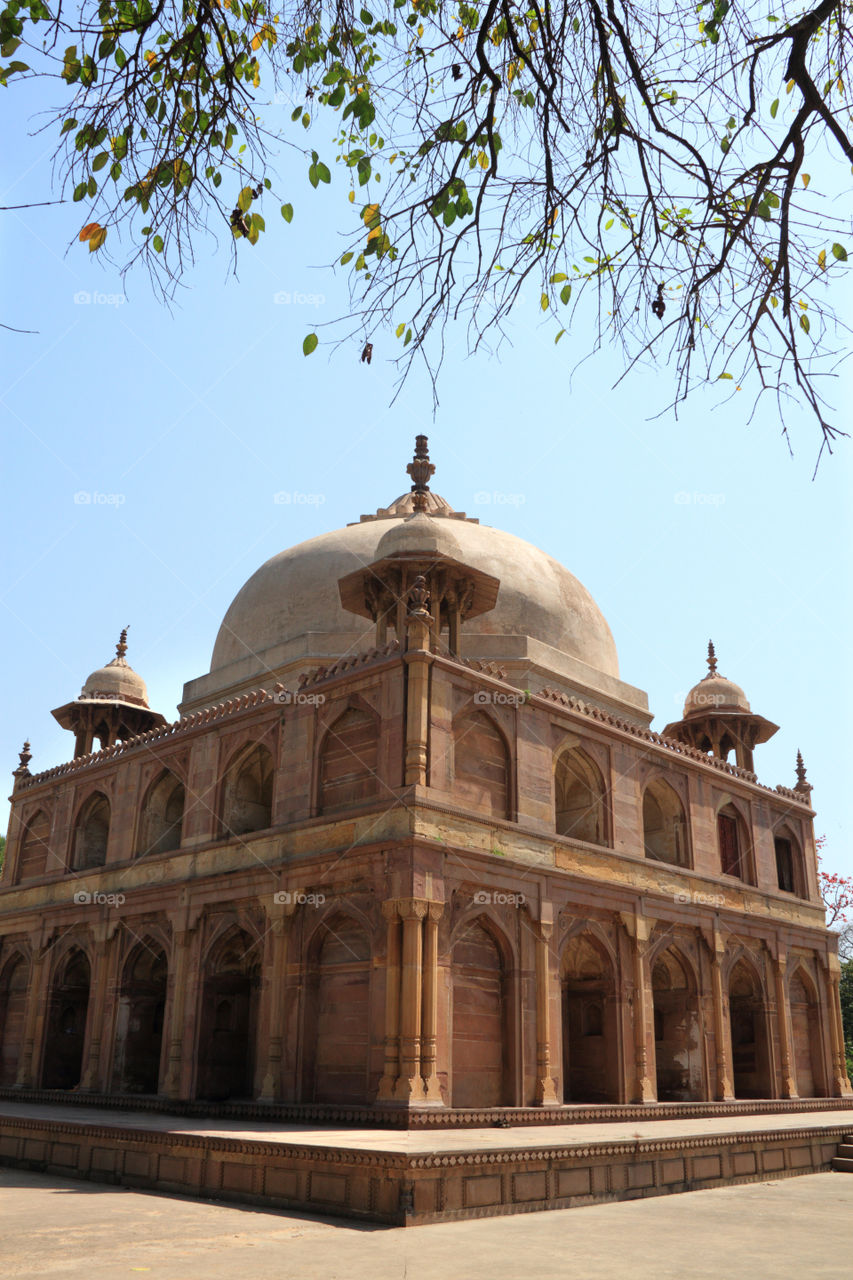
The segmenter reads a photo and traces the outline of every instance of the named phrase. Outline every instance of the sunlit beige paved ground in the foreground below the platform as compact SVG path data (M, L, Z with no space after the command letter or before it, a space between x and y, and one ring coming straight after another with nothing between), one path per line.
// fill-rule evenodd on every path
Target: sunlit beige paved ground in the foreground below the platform
M409 1230L0 1169L4 1280L850 1280L853 1175Z

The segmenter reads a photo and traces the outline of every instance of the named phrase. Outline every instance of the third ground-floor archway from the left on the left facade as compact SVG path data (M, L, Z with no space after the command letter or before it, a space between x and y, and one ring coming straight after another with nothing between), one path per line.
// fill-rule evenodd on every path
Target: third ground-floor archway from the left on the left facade
M160 1084L168 964L163 947L141 942L128 956L119 991L113 1088L156 1093Z

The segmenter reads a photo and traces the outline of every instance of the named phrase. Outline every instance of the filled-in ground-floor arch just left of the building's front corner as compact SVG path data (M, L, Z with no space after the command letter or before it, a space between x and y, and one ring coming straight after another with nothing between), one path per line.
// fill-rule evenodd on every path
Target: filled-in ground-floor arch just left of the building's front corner
M370 1080L370 938L348 915L325 923L314 940L306 992L304 1097L368 1102Z

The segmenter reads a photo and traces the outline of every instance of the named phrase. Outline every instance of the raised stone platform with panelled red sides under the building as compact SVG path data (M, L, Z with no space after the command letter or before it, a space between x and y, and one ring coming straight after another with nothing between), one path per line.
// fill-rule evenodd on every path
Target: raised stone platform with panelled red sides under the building
M3 1100L0 1164L415 1226L817 1172L853 1132L843 1105L585 1124L561 1114L520 1129L401 1133Z

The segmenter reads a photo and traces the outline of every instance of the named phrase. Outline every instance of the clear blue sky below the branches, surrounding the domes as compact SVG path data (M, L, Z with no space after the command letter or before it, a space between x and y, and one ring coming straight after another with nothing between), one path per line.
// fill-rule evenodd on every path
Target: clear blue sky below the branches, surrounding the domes
M0 204L46 198L47 140L26 136L27 93L4 105ZM792 413L792 458L770 401L748 422L745 389L726 402L715 387L678 420L652 420L671 397L667 371L612 389L619 357L579 365L584 334L555 348L533 289L498 357L466 358L465 333L452 335L434 417L421 372L392 403L391 334L373 335L370 366L355 343L301 353L343 301L323 266L343 206L296 174L286 189L292 227L270 201L270 233L241 246L238 279L227 247L202 243L172 312L143 276L122 283L85 246L67 252L82 206L3 215L4 320L38 330L0 334L9 773L24 737L33 771L69 756L50 710L113 655L126 623L128 658L172 718L242 582L406 489L424 431L437 492L592 591L654 728L679 716L713 637L720 669L780 724L757 749L760 780L792 785L802 749L826 865L852 874L849 445L812 480L812 422ZM95 301L74 301L81 292ZM115 294L126 301L106 301ZM849 376L833 398L849 403ZM282 492L296 500L277 503Z

